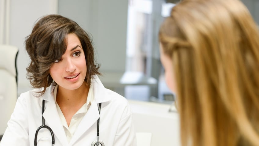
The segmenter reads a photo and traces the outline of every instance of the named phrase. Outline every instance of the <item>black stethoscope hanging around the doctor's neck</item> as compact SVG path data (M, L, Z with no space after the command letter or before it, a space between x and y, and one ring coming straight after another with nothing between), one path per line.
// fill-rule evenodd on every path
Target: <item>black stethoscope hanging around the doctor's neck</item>
M102 103L99 103L99 107L98 107L99 114L101 111L101 105L102 105ZM51 137L52 137L52 145L55 144L55 137L54 137L54 133L53 133L52 129L49 126L45 125L45 119L43 117L44 110L45 110L45 100L43 99L42 100L42 125L39 126L39 128L36 130L35 138L34 138L34 146L37 146L38 132L42 128L46 128L49 130ZM102 140L99 140L99 123L100 123L100 118L98 118L98 120L97 120L97 140L94 140L92 142L91 146L104 146L104 142Z

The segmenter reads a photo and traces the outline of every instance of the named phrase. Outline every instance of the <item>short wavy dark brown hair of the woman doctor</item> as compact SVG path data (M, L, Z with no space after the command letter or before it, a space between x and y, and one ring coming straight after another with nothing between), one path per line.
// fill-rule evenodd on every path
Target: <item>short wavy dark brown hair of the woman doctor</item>
M86 58L85 81L91 84L91 77L100 74L99 65L95 65L94 49L90 36L75 21L60 15L46 15L38 20L32 32L25 40L25 48L31 58L26 68L27 78L34 88L43 88L43 95L53 79L49 69L55 60L61 58L67 48L66 36L74 33L81 42Z

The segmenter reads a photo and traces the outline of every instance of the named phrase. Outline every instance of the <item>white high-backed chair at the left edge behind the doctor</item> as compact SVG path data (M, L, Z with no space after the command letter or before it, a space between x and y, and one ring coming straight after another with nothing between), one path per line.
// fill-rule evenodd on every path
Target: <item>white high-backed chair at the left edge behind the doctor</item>
M17 47L0 45L0 141L17 100L17 54Z

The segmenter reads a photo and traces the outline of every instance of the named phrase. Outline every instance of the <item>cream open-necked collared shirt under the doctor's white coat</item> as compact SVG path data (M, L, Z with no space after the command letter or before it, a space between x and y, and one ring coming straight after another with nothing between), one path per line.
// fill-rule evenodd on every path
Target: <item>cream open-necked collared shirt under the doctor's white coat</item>
M54 99L56 100L57 97L57 88L58 85L54 88ZM64 114L62 113L59 105L57 104L56 101L56 106L57 106L57 112L59 114L59 118L61 120L61 123L63 125L65 134L67 136L67 141L68 143L70 142L71 138L73 137L79 123L81 122L82 118L85 116L87 110L89 109L91 103L93 102L94 95L93 95L93 87L90 85L89 92L87 95L87 100L86 103L74 114L74 116L71 118L70 125L67 125L67 121L64 117Z

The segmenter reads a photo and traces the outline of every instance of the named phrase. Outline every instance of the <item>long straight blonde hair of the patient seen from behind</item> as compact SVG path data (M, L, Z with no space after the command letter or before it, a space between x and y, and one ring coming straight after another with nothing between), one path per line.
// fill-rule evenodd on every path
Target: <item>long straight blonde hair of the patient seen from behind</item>
M183 146L259 145L259 34L239 0L185 0L160 28Z

